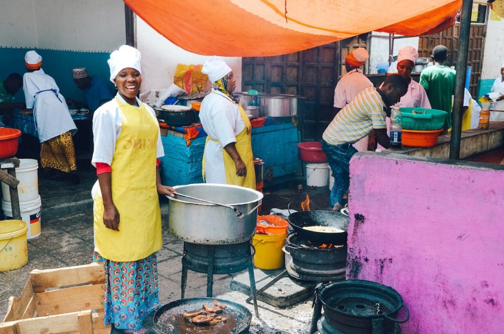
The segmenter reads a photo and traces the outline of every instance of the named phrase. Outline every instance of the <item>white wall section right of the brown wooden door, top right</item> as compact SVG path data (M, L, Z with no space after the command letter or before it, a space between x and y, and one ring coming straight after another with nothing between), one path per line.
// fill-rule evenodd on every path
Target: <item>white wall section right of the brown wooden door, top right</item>
M495 79L500 76L502 62L504 62L504 18L500 21L488 19L480 79Z

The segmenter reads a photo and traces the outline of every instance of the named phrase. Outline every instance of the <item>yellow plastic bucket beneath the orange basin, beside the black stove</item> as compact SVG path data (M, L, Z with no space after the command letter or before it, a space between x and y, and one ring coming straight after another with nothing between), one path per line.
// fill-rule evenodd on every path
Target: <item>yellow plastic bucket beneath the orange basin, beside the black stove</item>
M254 265L259 269L278 269L284 265L284 251L287 233L281 235L255 234L252 245L255 247Z

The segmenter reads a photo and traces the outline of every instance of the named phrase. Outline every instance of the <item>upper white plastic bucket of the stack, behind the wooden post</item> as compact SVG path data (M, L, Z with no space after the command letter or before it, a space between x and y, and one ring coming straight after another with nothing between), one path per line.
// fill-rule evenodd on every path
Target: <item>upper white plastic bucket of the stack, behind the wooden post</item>
M38 196L38 161L35 159L19 159L19 167L16 168L16 179L19 180L19 202L36 200ZM11 201L9 186L2 182L2 199ZM28 238L29 239L29 238Z

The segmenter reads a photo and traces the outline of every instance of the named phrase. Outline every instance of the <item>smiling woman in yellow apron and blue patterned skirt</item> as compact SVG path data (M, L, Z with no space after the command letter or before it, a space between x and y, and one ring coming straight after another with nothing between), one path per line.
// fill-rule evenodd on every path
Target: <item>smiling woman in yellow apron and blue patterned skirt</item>
M154 111L136 98L140 52L123 45L108 64L118 94L93 117L93 258L105 262L105 325L142 334L142 321L161 307L154 253L162 246L157 194L173 196L174 190L160 183L156 158L164 153Z

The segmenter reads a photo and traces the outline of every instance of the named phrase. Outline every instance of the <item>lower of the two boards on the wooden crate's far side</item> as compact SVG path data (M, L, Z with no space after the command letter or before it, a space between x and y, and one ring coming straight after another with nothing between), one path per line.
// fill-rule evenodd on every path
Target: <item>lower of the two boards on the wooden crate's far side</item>
M38 316L103 308L104 284L72 287L35 294Z

